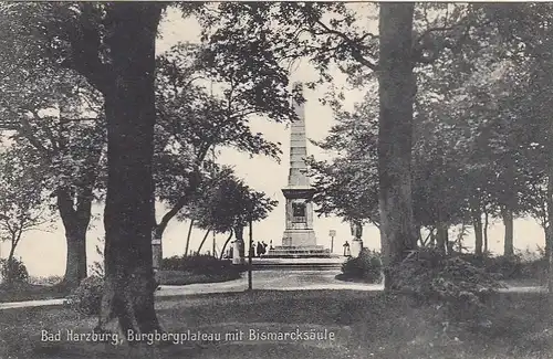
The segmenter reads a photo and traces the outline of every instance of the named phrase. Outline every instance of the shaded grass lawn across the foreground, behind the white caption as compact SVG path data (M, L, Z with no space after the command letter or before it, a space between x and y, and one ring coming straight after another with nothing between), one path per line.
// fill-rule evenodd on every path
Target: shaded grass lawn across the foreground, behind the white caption
M383 293L304 291L232 293L165 298L159 318L171 334L220 334L221 340L167 347L66 341L67 329L86 332L95 318L70 309L18 308L0 315L0 358L386 358L553 359L553 309L540 294L493 299L482 326L446 326L436 308ZM483 320L483 319L482 319ZM333 332L330 340L249 340L250 330ZM445 328L447 328L445 330ZM42 342L41 330L62 331L60 342ZM242 330L244 337L225 338ZM252 338L255 339L255 338ZM149 351L148 351L149 350Z

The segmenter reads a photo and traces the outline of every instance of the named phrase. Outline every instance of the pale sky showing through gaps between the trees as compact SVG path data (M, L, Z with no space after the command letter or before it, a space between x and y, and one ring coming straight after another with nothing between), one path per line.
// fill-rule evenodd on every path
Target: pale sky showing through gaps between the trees
M366 10L366 9L363 9ZM374 23L371 27L376 27ZM167 51L171 45L179 41L199 42L200 28L194 19L182 19L177 11L169 10L160 24L161 38L157 43L157 52ZM335 72L336 85L345 84L345 77ZM291 75L292 82L307 82L316 76L314 70L306 61L302 62ZM305 89L305 123L307 138L314 140L323 139L334 124L333 113L327 106L323 106L319 98L324 95L323 91ZM352 107L356 102L361 102L362 92L351 91L346 94L346 106ZM279 205L263 221L253 224L253 237L255 241L273 242L273 245L280 245L284 231L284 197L281 189L286 186L289 172L289 142L290 128L285 124L270 123L264 118L252 118L252 130L264 134L268 140L282 144L282 161L279 163L274 159L262 156L250 158L248 154L241 154L233 149L218 148L218 161L220 163L234 167L239 177L258 191L265 192L269 197L279 201ZM307 144L307 154L316 159L328 158L328 154L323 152L312 144ZM156 204L158 220L167 211L163 204ZM94 205L94 220L87 233L87 261L92 264L94 261L102 261L96 254L95 247L103 237L102 222L103 205ZM163 241L164 256L181 255L185 249L185 241L188 231L188 222L178 222L173 220ZM314 220L314 230L317 236L317 244L325 247L331 246L328 236L330 230L336 231L334 240L334 252L342 251L342 244L351 241L349 225L342 222L340 218L316 218ZM246 230L248 233L248 230ZM244 233L244 234L246 234ZM191 236L191 249L196 250L204 237L204 232L195 229ZM450 231L450 236L456 235L456 231ZM503 247L504 229L501 222L495 222L489 229L489 246L494 253L501 253ZM211 235L205 244L205 250L211 249ZM227 239L227 234L216 236L217 246L220 249ZM365 226L363 232L364 245L379 250L379 232L374 226ZM466 237L466 245L472 246L473 235L470 233ZM536 245L543 246L544 234L540 225L532 219L519 219L514 222L514 246L520 250L535 250ZM0 257L6 257L9 252L9 244L0 244ZM202 251L204 252L204 251ZM15 256L21 257L32 276L63 275L65 268L65 236L61 221L54 224L54 229L40 230L25 233L19 244Z

